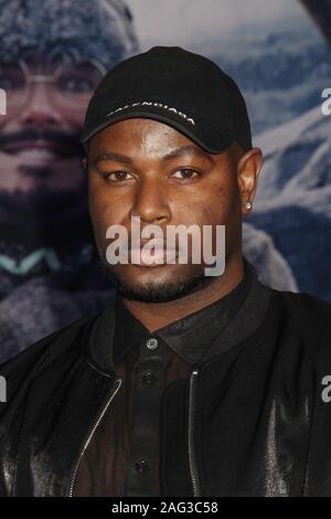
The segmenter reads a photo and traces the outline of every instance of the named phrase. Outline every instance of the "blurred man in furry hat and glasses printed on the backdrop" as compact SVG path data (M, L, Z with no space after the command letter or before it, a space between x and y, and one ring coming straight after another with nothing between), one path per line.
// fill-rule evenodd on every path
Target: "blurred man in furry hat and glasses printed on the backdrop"
M79 135L104 73L138 43L120 0L0 0L0 41L4 361L111 300L93 245Z

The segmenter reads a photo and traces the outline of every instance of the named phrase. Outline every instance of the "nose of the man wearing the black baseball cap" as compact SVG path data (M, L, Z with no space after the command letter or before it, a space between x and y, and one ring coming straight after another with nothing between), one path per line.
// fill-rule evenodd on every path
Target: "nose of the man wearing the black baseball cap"
M158 179L143 180L136 193L130 216L140 216L147 223L169 221L169 197Z

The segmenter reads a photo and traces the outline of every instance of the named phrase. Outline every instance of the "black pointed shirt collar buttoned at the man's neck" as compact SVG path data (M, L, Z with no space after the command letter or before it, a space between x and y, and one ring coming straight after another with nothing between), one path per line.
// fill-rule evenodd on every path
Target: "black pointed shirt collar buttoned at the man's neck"
M114 362L121 360L137 341L150 337L161 339L186 362L199 362L245 301L252 280L252 267L244 257L244 277L226 296L153 332L130 313L121 297L116 296Z

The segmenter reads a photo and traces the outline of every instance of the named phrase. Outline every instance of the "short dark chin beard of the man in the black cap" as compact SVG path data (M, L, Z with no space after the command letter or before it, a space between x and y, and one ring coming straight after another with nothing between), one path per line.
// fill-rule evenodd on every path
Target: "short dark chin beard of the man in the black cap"
M194 294L195 292L207 287L215 278L204 274L204 265L189 265L186 269L178 276L175 280L151 280L148 283L130 283L122 274L117 272L113 266L102 263L104 273L111 277L115 283L116 293L126 298L143 303L168 303L184 296Z

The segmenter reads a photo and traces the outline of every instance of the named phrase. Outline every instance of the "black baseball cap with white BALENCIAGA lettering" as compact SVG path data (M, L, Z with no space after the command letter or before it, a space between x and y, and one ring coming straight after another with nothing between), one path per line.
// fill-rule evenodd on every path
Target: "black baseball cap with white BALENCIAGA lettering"
M247 108L236 83L205 56L153 46L104 76L87 107L81 141L119 120L147 117L178 129L210 153L234 141L252 149Z

